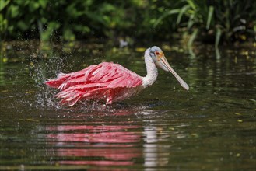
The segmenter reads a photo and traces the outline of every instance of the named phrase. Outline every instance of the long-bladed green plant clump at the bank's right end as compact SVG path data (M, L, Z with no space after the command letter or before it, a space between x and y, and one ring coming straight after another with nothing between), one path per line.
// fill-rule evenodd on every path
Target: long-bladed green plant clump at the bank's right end
M164 19L175 16L177 28L191 34L188 46L199 37L205 42L214 41L216 47L220 40L256 40L255 8L254 0L185 0L164 12L154 27L163 25Z

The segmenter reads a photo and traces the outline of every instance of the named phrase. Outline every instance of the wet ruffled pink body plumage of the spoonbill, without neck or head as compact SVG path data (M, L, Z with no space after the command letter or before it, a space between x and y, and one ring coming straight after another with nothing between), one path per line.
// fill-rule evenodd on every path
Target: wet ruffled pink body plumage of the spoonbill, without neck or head
M45 83L59 89L56 96L68 106L84 99L101 99L111 104L137 94L142 77L121 65L103 62L79 72L60 73L57 79Z

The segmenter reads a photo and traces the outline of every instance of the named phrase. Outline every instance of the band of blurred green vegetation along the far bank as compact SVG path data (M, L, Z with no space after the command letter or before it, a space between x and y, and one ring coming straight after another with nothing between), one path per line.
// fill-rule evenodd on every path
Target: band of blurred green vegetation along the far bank
M255 41L255 9L254 0L0 0L0 39L170 40L187 35L188 44L198 39L218 46Z

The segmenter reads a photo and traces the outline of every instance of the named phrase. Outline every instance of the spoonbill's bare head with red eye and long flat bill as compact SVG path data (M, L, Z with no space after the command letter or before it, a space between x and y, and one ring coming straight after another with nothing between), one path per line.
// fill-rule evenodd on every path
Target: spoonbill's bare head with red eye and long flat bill
M157 67L162 68L164 71L171 72L177 81L180 82L181 86L184 89L189 89L189 86L186 82L184 82L183 79L177 73L174 71L173 68L169 65L167 58L165 58L163 51L160 49L160 47L151 47L149 48L149 56L150 58L153 59L154 63L156 64Z

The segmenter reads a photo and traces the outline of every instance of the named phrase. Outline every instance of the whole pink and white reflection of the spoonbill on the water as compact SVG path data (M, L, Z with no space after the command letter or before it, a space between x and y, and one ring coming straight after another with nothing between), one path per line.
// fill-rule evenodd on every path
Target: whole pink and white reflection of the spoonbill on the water
M157 166L157 127L145 125L147 117L155 114L141 110L138 116L134 111L117 110L112 116L99 113L79 125L63 120L46 127L47 143L59 164L135 166L140 161L145 167Z

